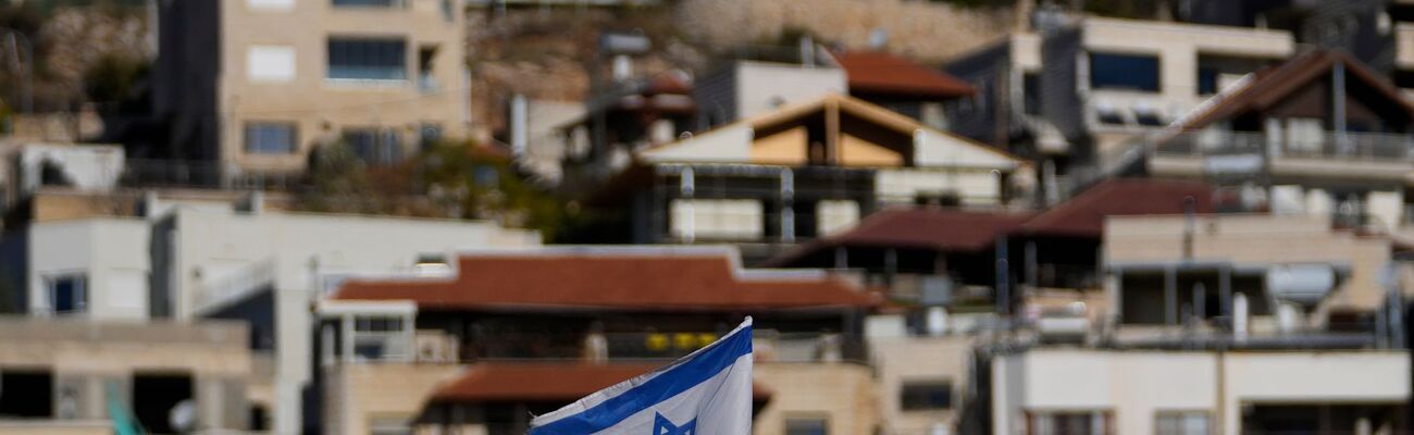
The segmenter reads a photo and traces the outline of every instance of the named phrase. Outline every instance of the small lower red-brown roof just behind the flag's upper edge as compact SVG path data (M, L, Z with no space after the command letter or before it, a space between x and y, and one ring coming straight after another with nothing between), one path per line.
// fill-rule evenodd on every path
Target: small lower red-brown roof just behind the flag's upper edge
M635 376L658 369L650 364L587 363L479 363L433 393L433 403L571 403ZM765 401L771 393L752 384L751 394Z

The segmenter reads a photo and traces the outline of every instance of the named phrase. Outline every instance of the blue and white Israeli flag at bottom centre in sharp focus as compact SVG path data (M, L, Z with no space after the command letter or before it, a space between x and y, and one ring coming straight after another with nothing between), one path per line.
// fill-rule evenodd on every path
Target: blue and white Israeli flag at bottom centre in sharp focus
M751 318L707 347L530 421L530 435L751 434Z

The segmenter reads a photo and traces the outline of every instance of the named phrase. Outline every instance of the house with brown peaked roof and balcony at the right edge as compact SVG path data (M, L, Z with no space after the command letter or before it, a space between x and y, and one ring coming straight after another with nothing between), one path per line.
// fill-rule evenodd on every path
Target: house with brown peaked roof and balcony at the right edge
M1202 178L1227 208L1326 215L1348 227L1404 232L1414 106L1340 51L1258 72L1169 130L1103 162L1110 172Z

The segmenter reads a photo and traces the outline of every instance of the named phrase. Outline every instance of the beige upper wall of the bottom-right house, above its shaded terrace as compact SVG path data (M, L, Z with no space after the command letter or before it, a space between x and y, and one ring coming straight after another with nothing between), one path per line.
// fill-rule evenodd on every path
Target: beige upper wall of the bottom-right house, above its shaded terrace
M1184 216L1110 218L1104 230L1104 258L1110 264L1176 261L1184 251ZM1195 260L1349 266L1350 277L1322 308L1373 309L1383 298L1379 277L1391 254L1384 237L1331 230L1329 220L1315 216L1199 216L1195 227Z

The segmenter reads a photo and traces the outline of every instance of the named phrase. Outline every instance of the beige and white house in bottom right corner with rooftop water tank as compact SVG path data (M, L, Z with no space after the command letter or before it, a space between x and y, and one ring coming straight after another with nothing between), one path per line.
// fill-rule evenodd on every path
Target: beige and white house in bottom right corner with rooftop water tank
M1389 239L1309 216L1110 219L1106 325L994 347L993 429L1407 431L1403 306L1374 282L1389 258Z

